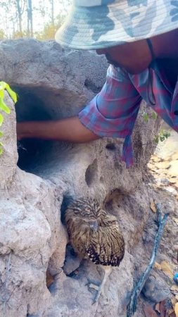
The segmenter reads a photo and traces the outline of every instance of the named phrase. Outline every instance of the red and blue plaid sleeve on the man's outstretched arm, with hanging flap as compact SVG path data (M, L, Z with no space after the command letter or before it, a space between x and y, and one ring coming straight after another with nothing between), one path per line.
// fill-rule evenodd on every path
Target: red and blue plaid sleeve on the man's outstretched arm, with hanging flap
M100 137L124 137L122 159L127 167L133 163L130 136L141 102L127 73L109 66L101 92L79 113L82 124Z

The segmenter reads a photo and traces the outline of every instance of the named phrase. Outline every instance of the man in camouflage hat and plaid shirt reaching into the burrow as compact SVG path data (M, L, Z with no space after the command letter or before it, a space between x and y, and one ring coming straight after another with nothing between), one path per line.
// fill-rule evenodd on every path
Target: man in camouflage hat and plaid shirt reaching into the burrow
M141 99L178 131L178 1L73 2L56 41L105 54L110 63L106 84L78 116L18 123L18 139L89 142L124 137L122 159L131 166L130 137Z

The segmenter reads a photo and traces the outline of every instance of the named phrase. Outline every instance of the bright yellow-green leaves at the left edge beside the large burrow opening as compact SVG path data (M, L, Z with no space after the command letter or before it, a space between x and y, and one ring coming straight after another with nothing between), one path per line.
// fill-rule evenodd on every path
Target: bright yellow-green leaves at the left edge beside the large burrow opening
M5 104L5 101L4 101L4 90L8 92L9 96L13 99L14 103L16 103L18 100L17 94L13 92L10 86L6 82L0 82L0 127L4 123L4 116L1 112L4 111L7 114L11 113L11 109ZM3 136L4 136L4 132L0 131L0 138ZM0 155L4 151L3 147L4 147L4 144L0 142Z

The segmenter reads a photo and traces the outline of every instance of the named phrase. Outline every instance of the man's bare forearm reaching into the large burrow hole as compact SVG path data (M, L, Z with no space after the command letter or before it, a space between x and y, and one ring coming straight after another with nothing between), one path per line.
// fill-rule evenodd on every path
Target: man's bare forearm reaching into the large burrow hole
M77 116L61 120L17 123L17 135L18 140L35 138L76 143L89 142L99 138L98 135L85 128Z

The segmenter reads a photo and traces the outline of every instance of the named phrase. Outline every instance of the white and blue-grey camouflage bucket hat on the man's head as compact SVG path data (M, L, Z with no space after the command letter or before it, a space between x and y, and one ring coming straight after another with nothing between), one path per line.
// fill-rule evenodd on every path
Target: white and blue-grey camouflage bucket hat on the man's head
M71 49L102 49L177 28L177 0L73 0L55 38Z

